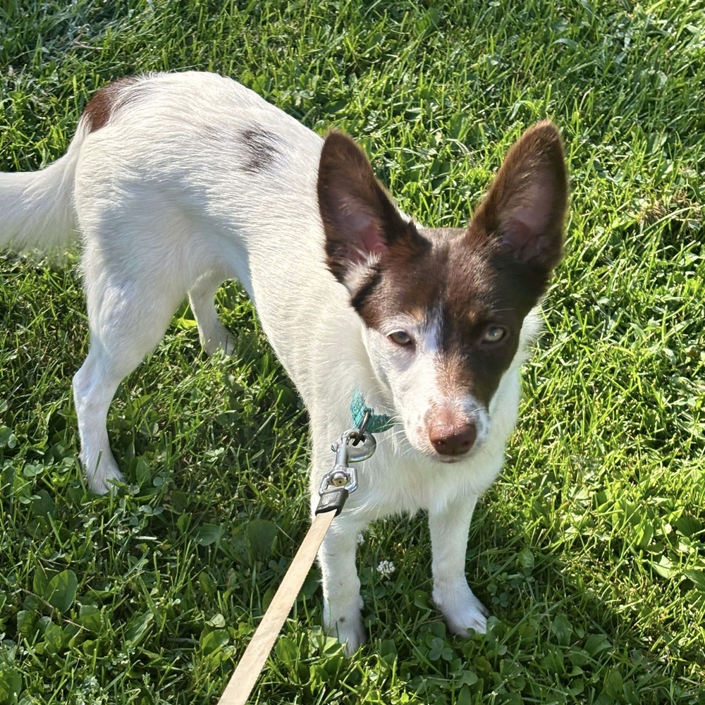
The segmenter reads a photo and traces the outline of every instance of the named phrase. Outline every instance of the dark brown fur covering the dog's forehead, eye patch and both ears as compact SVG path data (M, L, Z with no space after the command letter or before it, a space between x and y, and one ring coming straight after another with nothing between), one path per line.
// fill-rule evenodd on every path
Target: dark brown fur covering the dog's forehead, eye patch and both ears
M349 137L326 139L319 205L329 269L364 323L381 331L399 314L434 326L439 387L489 405L513 360L563 245L567 177L551 123L510 149L466 229L419 229L395 209ZM489 328L507 334L484 341Z

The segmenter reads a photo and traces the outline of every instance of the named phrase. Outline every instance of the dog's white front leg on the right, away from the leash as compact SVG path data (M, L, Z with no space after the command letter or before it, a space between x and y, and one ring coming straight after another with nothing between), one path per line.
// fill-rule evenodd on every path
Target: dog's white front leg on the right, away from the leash
M486 608L465 578L465 549L477 495L458 498L441 510L429 511L434 602L445 616L450 631L467 637L487 629Z

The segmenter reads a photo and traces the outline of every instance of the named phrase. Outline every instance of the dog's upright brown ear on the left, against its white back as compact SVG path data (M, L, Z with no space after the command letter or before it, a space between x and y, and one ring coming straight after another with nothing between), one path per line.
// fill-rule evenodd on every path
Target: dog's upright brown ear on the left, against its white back
M318 203L326 233L326 264L346 283L350 269L384 255L409 230L369 159L339 132L326 137L318 171Z

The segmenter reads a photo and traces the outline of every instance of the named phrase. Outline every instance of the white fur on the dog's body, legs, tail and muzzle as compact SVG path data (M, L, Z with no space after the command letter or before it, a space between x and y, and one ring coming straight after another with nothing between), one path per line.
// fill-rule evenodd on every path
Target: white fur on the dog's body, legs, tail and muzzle
M313 506L333 460L331 441L350 426L354 388L376 412L402 422L379 435L376 455L359 467L360 489L319 553L326 629L346 642L348 654L365 639L355 568L360 530L379 517L427 510L434 599L454 632L484 630L482 605L465 580L467 529L477 498L501 469L534 317L489 409L472 398L439 398L437 333L415 331L421 345L413 359L391 350L384 336L365 329L324 266L318 135L217 75L154 75L124 90L134 99L93 133L81 121L55 164L0 175L0 245L57 246L72 228L82 234L90 353L74 394L91 489L108 491L120 477L105 422L121 379L157 345L186 295L204 348L231 350L213 299L224 280L238 278L310 412ZM238 168L246 157L240 131L252 125L281 140L266 171ZM476 419L478 441L458 462L440 462L418 430L434 401Z

